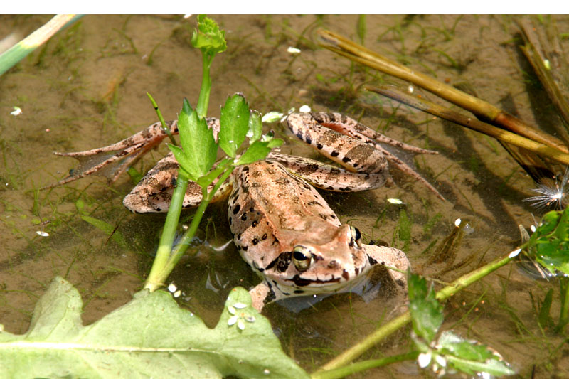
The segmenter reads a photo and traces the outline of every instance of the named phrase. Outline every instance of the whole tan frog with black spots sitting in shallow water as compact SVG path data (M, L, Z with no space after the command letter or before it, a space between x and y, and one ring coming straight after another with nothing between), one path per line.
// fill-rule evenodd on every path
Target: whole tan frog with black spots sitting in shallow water
M392 268L390 279L405 294L410 269L405 252L363 243L358 228L342 224L314 187L337 192L379 188L393 183L390 163L444 199L382 144L415 154L436 152L390 139L339 113L292 113L285 124L292 134L340 166L272 151L262 161L238 166L220 186L212 201L228 198L228 223L237 250L261 278L250 289L252 305L262 311L272 301L347 291L378 266ZM178 132L176 121L167 125L172 134ZM208 119L208 125L217 136L218 120ZM100 173L115 180L165 137L161 124L156 123L104 148L56 153L82 162L80 169L59 183ZM125 196L123 204L135 213L167 211L177 168L174 156L166 155ZM190 182L184 208L200 201L201 188Z

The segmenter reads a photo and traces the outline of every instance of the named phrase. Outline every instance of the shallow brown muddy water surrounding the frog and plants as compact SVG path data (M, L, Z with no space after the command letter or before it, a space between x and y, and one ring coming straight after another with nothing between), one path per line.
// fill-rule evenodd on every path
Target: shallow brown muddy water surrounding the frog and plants
M533 182L497 142L359 92L364 82L397 80L317 48L314 30L319 27L359 41L358 16L213 18L226 31L228 50L213 63L212 116L218 116L228 95L243 92L260 112L287 112L300 105L344 112L390 137L440 153L416 156L415 164L445 202L397 172L397 186L326 195L341 220L357 225L366 239L404 247L416 272L450 282L513 250L518 225L533 223L532 209L522 203ZM25 36L47 20L2 16L0 36ZM560 31L567 31L569 19L556 20ZM546 126L555 119L543 101L546 95L527 75L531 69L514 39L514 18L367 16L365 21L368 48L439 80L469 85L479 97L527 122ZM0 322L6 330L26 331L33 304L55 275L80 290L85 323L126 303L140 288L164 216L133 215L122 208L132 181L125 176L108 186L97 177L41 188L76 166L53 151L105 146L154 122L147 92L168 119L176 117L183 97L196 104L201 56L189 43L194 25L195 18L179 16L85 16L0 78ZM287 53L289 46L302 53ZM23 113L12 116L14 106ZM280 125L270 127L287 140L285 152L314 156ZM164 147L135 168L146 171L162 154ZM400 198L404 213L387 198ZM114 225L124 242L107 237L82 215ZM400 228L405 216L409 238ZM450 265L427 265L457 218L468 220L472 233ZM41 230L49 237L36 233ZM181 303L214 325L228 290L258 279L232 244L222 252L212 248L230 240L223 205L208 210L201 236L206 243L196 248L195 257L181 262L172 279L184 292ZM557 291L555 284L504 267L451 299L444 327L496 348L523 377L531 374L533 363L537 378L568 375L566 348L556 350L563 338L541 331L536 322L536 299L549 288ZM312 370L393 316L397 304L379 297L381 301L366 303L356 295L339 295L299 314L273 304L266 314L285 351ZM406 334L390 338L368 357L405 351L410 343ZM403 364L366 375L413 373L413 364Z

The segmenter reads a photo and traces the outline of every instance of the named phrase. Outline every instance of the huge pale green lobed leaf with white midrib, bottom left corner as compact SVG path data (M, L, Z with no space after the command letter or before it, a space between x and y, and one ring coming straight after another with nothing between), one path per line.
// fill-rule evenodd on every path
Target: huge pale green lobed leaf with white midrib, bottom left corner
M242 307L243 330L240 321L229 325L229 306ZM215 329L163 291L138 292L90 326L81 324L82 308L78 291L55 278L26 334L0 332L0 377L308 378L242 288L231 291Z

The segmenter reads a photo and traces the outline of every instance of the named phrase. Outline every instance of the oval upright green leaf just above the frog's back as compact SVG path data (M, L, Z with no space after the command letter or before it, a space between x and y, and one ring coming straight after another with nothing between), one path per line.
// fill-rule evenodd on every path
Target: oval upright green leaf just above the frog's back
M219 124L219 146L225 154L235 158L249 130L249 105L243 95L236 93L228 97L221 108Z

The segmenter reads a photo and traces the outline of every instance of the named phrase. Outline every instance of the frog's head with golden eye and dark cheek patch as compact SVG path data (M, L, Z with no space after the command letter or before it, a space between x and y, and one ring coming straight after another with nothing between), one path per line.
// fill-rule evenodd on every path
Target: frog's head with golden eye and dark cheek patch
M285 296L294 296L334 292L370 266L359 230L342 225L314 241L295 240L292 250L282 252L263 274Z

